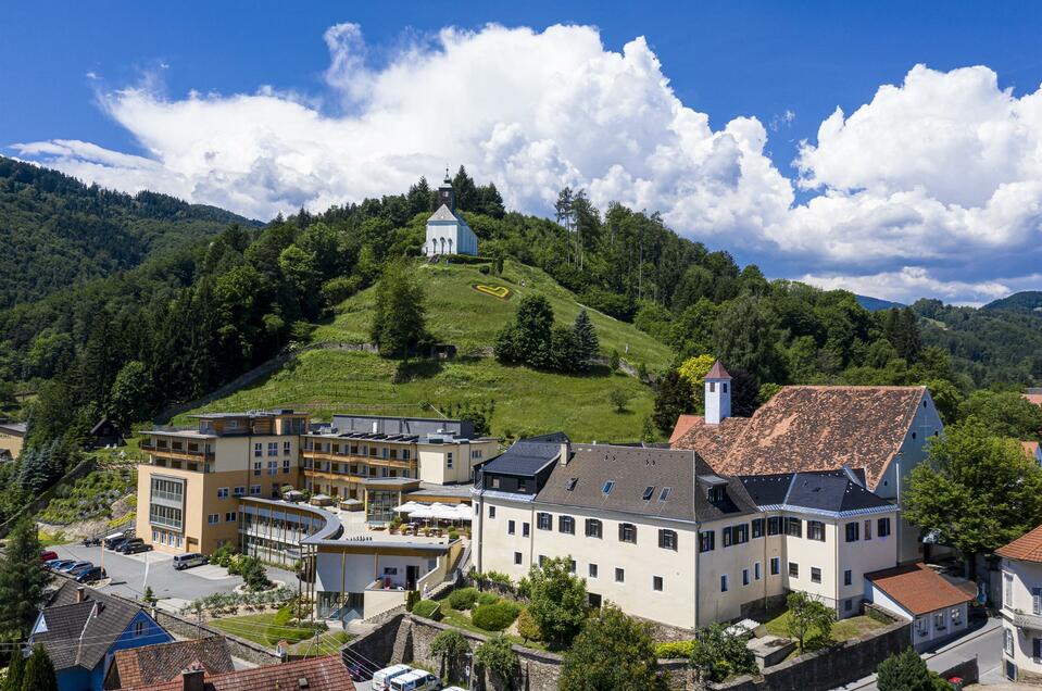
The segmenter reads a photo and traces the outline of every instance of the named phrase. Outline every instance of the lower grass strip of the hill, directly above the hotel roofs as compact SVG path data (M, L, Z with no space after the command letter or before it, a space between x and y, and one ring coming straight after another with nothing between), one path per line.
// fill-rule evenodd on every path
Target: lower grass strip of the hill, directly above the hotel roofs
M371 353L311 351L267 379L192 412L293 407L317 419L332 413L430 416L422 405L495 401L492 434L517 437L564 430L574 441L631 441L652 413L654 393L632 377L606 370L587 376L506 367L492 359L460 357L425 365L393 384L398 363ZM607 392L630 394L624 413ZM186 415L175 424L191 424Z

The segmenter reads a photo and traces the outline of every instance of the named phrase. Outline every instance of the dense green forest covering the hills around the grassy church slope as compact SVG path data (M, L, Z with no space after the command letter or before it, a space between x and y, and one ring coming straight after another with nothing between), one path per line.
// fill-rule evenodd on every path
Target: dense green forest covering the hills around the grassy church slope
M20 200L15 212L0 212L16 235L33 236L35 225L22 224L43 225L57 214L71 224L66 236L81 238L63 246L74 254L68 263L93 266L77 271L100 274L145 257L134 268L0 312L0 382L36 394L26 406L30 447L38 450L30 457L47 461L42 470L8 470L25 476L24 489L46 483L41 473L67 466L100 415L125 425L145 420L309 341L316 324L328 324L337 305L375 285L392 262L404 260L406 269L419 262L436 202L419 180L404 194L250 227L225 224L224 212L86 188L35 166L5 162L0 169L8 172L0 183L22 186L3 197L8 204ZM583 305L632 322L670 348L673 365L645 379L663 399L660 427L696 406L696 395L692 403L690 393L678 397L675 389L690 386L678 368L700 355L727 364L741 399L736 410L745 412L783 384L928 384L939 407L954 415L975 389L1042 378L1039 316L936 301L869 312L846 291L768 281L756 266L739 267L727 252L679 237L656 214L620 204L595 209L581 190L563 190L551 221L507 212L494 186L477 185L463 168L453 186L489 271L504 257L538 267ZM92 209L91 200L109 200L97 201L109 211L71 211ZM124 210L124 221L114 209ZM142 209L151 210L149 223ZM133 236L121 243L137 242L145 254L105 254L121 244L96 237L91 228L105 223L120 226L118 237ZM202 226L214 223L224 229L209 236ZM193 233L203 239L186 241Z

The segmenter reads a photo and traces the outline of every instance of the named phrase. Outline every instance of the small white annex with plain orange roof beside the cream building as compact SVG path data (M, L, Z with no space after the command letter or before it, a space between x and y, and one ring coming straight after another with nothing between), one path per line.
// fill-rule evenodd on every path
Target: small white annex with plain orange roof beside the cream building
M865 598L913 623L912 645L933 649L966 632L972 593L957 588L922 563L865 576Z

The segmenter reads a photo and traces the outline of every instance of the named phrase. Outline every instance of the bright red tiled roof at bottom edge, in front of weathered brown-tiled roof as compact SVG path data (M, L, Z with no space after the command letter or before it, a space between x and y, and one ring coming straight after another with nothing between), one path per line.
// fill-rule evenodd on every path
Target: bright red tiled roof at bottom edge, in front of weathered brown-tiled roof
M338 655L312 657L267 665L253 669L240 669L219 675L206 674L204 691L287 691L301 688L300 681L307 680L307 691L354 691L354 682ZM174 681L124 687L135 691L183 691L184 680L178 676Z

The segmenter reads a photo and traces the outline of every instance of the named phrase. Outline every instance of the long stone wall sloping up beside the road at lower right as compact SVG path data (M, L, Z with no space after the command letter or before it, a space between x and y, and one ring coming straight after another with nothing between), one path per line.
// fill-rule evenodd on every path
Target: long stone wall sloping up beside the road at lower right
M911 640L912 623L894 621L878 631L775 665L763 678L743 676L707 686L716 691L834 689L872 674L879 663L907 648Z

